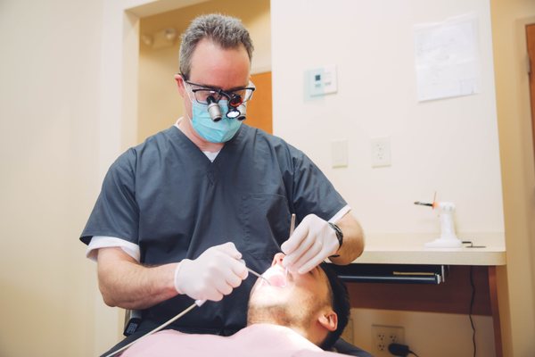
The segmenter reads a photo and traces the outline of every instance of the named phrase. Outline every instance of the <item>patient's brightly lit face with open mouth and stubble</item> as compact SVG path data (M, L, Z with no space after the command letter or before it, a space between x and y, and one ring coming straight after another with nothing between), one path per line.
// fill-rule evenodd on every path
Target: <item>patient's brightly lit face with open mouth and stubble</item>
M259 278L252 287L248 323L272 322L284 326L307 328L316 319L315 312L330 304L325 272L316 267L307 274L288 271L282 265L283 253L277 253L271 268L264 274L269 285Z

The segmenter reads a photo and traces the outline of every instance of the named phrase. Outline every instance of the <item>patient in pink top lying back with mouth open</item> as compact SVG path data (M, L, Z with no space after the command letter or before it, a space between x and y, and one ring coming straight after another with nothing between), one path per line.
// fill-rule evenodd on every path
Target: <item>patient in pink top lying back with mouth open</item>
M252 287L247 327L235 335L164 330L142 338L122 356L342 355L324 349L333 345L347 324L350 304L345 286L325 265L303 275L286 272L283 258L277 253L271 268L263 274L271 284L259 278Z

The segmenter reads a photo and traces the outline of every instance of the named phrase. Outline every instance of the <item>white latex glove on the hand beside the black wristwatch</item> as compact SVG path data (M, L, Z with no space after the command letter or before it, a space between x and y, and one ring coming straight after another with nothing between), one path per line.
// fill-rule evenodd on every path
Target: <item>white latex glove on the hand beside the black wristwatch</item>
M326 220L309 214L281 245L284 267L305 274L338 251L340 243Z

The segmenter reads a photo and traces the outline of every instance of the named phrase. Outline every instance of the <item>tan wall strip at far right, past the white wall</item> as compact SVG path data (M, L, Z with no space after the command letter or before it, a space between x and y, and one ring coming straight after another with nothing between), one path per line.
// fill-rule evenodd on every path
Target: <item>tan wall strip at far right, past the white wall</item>
M529 356L535 350L535 167L525 25L535 23L535 2L490 4L506 217L507 266L498 271L502 337L505 356Z

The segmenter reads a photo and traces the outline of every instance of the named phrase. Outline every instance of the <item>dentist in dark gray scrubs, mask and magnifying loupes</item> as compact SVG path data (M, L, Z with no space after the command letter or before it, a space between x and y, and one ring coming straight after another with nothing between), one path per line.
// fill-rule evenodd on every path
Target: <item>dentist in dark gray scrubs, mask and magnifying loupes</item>
M175 76L185 116L121 154L103 181L80 239L104 302L142 311L136 332L110 352L194 299L208 302L170 328L232 335L246 325L255 281L246 266L263 272L282 251L285 267L306 274L364 249L350 207L314 162L243 121L252 50L241 21L195 19ZM298 225L288 237L292 213Z

